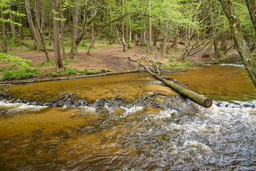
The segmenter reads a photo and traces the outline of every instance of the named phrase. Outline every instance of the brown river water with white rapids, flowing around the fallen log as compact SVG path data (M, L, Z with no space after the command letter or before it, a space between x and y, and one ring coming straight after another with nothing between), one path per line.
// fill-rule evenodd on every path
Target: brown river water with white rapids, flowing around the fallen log
M255 170L256 91L242 72L225 65L165 74L213 99L211 108L146 73L11 86L12 99L0 103L0 170ZM148 91L170 103L141 105ZM88 105L43 105L70 92ZM111 103L120 96L123 104Z

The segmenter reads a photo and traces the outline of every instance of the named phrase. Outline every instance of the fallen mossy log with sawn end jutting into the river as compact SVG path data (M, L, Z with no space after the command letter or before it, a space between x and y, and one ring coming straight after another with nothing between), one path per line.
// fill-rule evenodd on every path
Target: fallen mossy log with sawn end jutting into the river
M212 105L212 100L211 99L208 99L207 97L199 95L198 93L190 91L190 90L188 90L186 88L178 86L177 84L172 83L172 82L164 79L162 76L160 76L161 72L158 71L158 69L157 69L158 73L155 74L154 72L150 71L148 69L148 67L146 67L144 64L140 63L139 60L132 60L131 57L129 57L128 59L131 60L132 62L137 62L140 66L144 67L145 70L147 70L149 74L155 76L155 78L157 80L159 80L160 82L166 84L166 86L174 89L175 91L177 91L181 95L187 97L188 99L194 101L195 103L197 103L199 105L202 105L202 107L205 107L205 108L210 108L211 107L211 105Z

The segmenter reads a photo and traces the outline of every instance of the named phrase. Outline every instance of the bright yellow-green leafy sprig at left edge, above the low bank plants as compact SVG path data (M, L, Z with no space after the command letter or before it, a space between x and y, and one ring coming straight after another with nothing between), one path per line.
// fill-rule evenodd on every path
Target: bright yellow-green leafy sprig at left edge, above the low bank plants
M30 68L31 60L19 58L18 56L11 56L0 53L0 63L8 63L10 66L21 67L21 68Z

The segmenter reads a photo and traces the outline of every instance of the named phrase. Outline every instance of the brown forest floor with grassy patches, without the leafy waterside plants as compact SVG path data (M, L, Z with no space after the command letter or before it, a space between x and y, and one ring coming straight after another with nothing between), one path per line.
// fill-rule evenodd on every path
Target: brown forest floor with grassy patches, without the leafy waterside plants
M160 42L157 44L160 44ZM65 68L76 68L78 70L88 69L90 71L97 70L99 72L102 70L111 70L115 72L132 70L138 65L137 63L129 61L127 59L129 56L131 56L132 59L152 59L152 54L154 52L159 62L162 62L171 68L188 68L191 66L202 66L203 64L216 64L219 62L225 62L227 60L234 61L240 58L237 50L235 49L231 49L229 52L227 52L226 55L222 54L223 56L221 58L216 58L214 56L214 47L210 51L210 56L208 56L208 58L203 58L204 52L206 52L207 49L207 47L205 47L202 51L199 51L195 55L189 56L184 61L182 61L179 59L179 56L184 50L184 45L182 44L178 44L175 50L172 50L170 46L167 46L168 54L165 57L160 56L161 51L159 46L153 46L152 54L148 54L147 47L132 45L132 48L128 49L127 52L123 52L123 47L119 43L109 45L108 47L102 47L106 46L106 44L103 44L102 41L100 43L99 41L96 42L95 45L97 48L93 48L90 51L90 55L86 54L86 47L80 47L78 50L79 56L77 61L66 55L66 58L63 59ZM46 63L46 57L42 51L27 51L26 47L19 49L11 47L10 52L14 51L15 53L11 53L10 55L31 60L31 67L37 68L42 73L50 73L56 71L54 62L50 64ZM69 51L70 50L66 50L66 54L68 54ZM54 61L53 51L49 51L49 56ZM155 60L155 56L153 59Z

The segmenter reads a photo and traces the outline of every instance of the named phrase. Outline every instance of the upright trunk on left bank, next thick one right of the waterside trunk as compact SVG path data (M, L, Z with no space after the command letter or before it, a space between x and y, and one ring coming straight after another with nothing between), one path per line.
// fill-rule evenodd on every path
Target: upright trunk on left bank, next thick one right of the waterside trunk
M76 56L77 56L77 48L78 48L76 47L76 39L78 36L78 4L77 4L77 0L75 0L74 2L75 2L75 5L74 5L74 11L73 11L73 39L72 39L72 47L70 50L70 55L72 56L73 59L77 58Z

